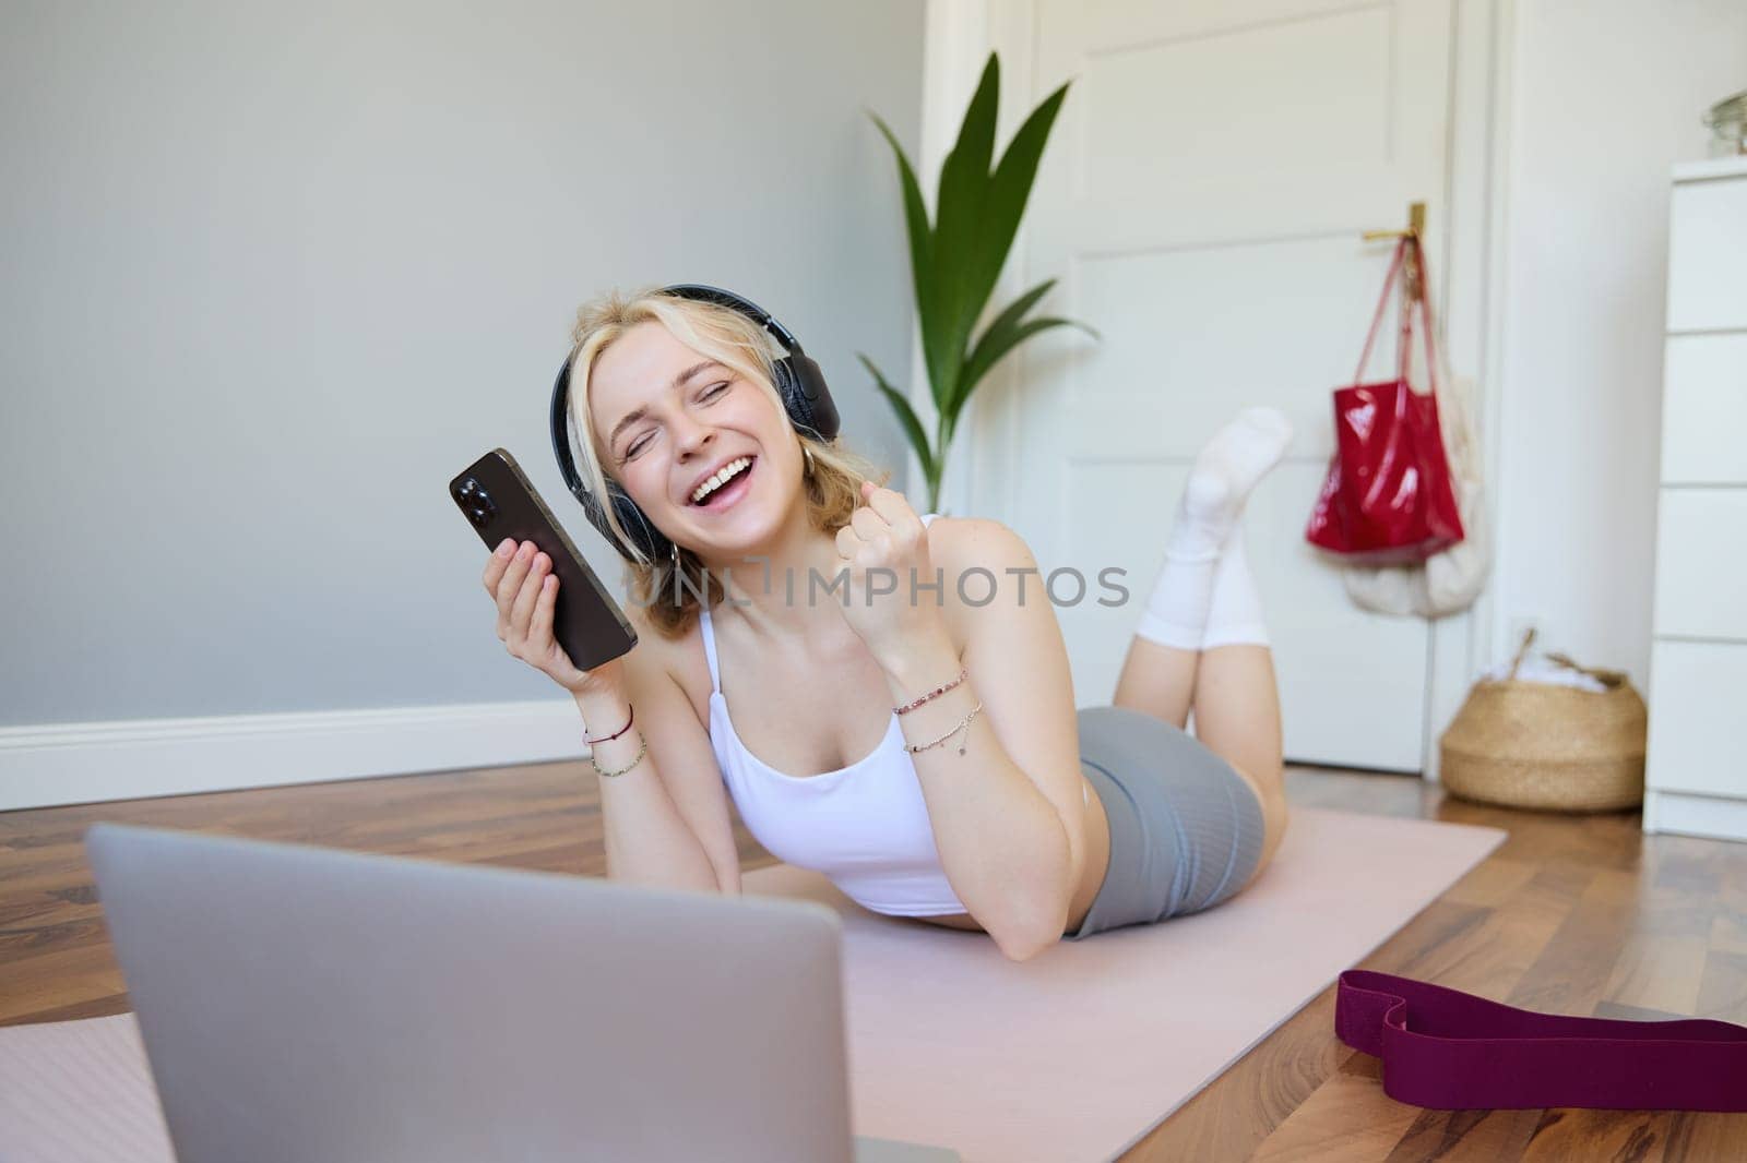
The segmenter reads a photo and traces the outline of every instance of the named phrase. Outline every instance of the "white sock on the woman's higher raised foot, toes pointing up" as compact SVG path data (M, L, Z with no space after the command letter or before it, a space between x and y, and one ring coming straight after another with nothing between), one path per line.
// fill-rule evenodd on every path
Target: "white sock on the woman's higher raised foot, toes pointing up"
M1197 454L1165 541L1165 564L1136 634L1177 650L1202 648L1221 550L1251 489L1286 456L1291 438L1293 428L1279 409L1253 407ZM1239 580L1247 578L1242 561L1239 566ZM1228 622L1237 625L1237 618Z

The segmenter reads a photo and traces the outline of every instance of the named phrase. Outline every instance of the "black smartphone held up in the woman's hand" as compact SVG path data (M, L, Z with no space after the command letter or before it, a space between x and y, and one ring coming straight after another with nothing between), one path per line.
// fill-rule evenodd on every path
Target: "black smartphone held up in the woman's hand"
M592 671L638 644L636 627L589 569L514 456L503 449L486 452L449 482L449 496L487 550L514 538L517 545L533 541L552 559L557 576L552 637L578 671Z

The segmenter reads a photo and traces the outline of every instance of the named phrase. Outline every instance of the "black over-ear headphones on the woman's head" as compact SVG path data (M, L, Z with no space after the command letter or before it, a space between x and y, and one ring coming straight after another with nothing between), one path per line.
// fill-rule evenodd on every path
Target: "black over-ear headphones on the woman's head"
M720 286L704 286L702 283L676 283L660 288L657 293L730 307L770 332L788 349L788 354L776 360L774 365L776 393L788 410L790 423L804 437L811 435L821 442L832 440L837 435L837 403L825 386L825 374L800 349L800 341L795 339L795 334L776 321L776 316L749 299L741 299L734 292L722 290ZM552 384L552 452L557 456L559 473L564 475L564 484L570 487L571 496L582 501L582 510L589 515L589 524L601 531L601 536L618 550L620 557L634 562L636 555L606 522L599 498L583 484L582 475L577 471L577 461L570 452L570 365L575 358L575 351L564 356L564 365L557 370L557 382ZM613 512L618 515L618 524L625 527L625 533L638 548L648 554L652 561L660 561L673 552L673 541L667 540L667 534L643 515L636 501L611 477L606 478L606 492Z

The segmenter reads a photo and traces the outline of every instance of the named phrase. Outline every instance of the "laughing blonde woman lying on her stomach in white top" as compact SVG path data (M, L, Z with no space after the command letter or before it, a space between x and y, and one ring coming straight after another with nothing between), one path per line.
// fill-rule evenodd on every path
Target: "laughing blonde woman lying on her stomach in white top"
M776 857L868 910L985 931L1015 960L1253 882L1286 796L1240 517L1286 452L1284 416L1247 409L1200 452L1113 705L1076 711L1025 541L917 517L835 423L819 440L746 307L648 292L578 313L580 477L592 498L617 482L664 547L590 517L631 561L631 653L571 665L531 543L505 541L484 575L498 637L577 698L608 875L739 892L732 795ZM825 588L846 573L847 602Z

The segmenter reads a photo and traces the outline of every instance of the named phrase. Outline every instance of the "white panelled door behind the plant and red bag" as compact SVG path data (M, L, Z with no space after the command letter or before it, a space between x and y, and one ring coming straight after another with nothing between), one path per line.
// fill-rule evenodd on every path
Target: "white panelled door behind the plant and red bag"
M1352 606L1303 526L1333 445L1329 391L1352 379L1391 253L1361 234L1405 225L1412 201L1440 232L1448 0L1038 0L1024 112L1074 84L1020 285L1059 278L1045 313L1102 342L1062 328L1020 349L987 403L980 431L1001 435L980 449L977 492L1045 571L1092 583L1080 604L1059 590L1078 702L1115 692L1197 449L1272 403L1298 438L1246 526L1286 754L1419 770L1429 625ZM1392 344L1385 325L1375 377ZM1127 604L1097 602L1108 566Z

